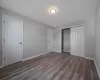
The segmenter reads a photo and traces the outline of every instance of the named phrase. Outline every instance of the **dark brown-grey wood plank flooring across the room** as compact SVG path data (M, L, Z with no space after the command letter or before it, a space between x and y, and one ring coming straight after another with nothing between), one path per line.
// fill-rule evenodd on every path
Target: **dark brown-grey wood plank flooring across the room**
M94 61L51 52L0 69L0 80L99 80Z

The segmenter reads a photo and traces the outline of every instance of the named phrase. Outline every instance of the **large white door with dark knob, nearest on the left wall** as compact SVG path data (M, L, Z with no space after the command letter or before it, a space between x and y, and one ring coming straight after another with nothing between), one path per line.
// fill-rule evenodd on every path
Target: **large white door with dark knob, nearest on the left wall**
M10 17L4 18L4 65L22 60L22 21Z

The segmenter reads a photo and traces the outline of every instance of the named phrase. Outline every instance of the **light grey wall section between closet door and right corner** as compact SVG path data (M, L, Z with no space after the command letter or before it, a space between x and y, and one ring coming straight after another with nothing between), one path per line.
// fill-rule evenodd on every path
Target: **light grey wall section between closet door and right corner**
M95 16L91 16L85 21L85 57L95 57Z

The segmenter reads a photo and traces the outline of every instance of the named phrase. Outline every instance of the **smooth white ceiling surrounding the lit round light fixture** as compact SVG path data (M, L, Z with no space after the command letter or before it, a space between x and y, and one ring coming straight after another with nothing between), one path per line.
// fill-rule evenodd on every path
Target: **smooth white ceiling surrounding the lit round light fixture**
M1 0L3 8L51 26L64 25L76 20L85 20L94 14L98 0ZM56 15L48 8L56 6Z

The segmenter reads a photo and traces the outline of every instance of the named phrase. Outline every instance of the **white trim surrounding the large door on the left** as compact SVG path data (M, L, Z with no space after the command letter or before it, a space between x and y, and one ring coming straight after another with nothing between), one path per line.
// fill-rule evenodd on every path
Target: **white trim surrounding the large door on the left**
M21 56L21 61L23 60L23 20L21 19L17 19L17 18L14 18L14 17L11 17L11 16L8 16L8 15L2 15L2 66L4 67L5 66L5 63L4 63L4 57L5 57L5 51L4 51L4 31L5 31L5 26L4 26L4 20L5 18L10 18L10 19L15 19L15 20L20 20L21 23L22 23L22 37L21 37L21 41L22 41L22 46L21 46L21 50L22 50L22 56Z

